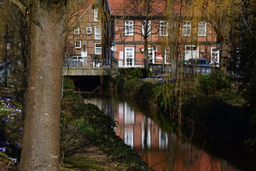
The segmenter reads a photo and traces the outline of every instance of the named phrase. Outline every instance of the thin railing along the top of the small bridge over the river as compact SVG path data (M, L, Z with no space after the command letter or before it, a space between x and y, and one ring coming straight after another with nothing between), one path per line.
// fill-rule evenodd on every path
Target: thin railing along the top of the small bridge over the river
M64 63L64 67L74 68L110 68L110 61L107 59L99 58L84 58L84 59L72 59Z

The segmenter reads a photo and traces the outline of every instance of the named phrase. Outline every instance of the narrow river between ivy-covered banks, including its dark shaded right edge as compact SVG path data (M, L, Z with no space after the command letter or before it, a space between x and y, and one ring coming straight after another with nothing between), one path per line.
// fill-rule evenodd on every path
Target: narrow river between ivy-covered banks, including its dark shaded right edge
M147 106L120 98L85 98L117 121L116 134L157 171L255 171L256 160L232 145L193 145L145 114ZM164 130L168 130L164 132Z

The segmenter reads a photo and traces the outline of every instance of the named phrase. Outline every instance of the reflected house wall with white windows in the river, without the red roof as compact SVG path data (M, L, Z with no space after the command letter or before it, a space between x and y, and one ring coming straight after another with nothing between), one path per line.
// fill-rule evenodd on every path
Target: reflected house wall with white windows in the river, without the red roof
M127 145L136 149L167 147L167 134L162 133L158 125L144 116L142 112L134 110L127 103L119 103L116 133Z

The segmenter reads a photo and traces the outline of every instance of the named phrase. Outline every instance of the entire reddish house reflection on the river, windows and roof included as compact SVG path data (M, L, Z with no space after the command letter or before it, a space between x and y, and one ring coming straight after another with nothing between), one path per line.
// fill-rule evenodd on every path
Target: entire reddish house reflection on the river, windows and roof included
M117 120L116 134L131 145L154 170L167 171L238 171L227 160L212 157L204 150L164 133L154 120L136 106L117 98L85 100ZM252 167L253 170L253 167Z

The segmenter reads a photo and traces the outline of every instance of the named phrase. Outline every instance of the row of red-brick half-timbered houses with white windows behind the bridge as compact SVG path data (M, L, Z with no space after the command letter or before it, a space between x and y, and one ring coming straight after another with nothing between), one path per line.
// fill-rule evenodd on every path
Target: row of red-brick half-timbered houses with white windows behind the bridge
M147 56L153 65L172 65L172 58L207 58L219 65L216 33L192 6L176 1L168 11L166 1L145 2L87 3L70 24L66 56L99 58L103 66L116 58L119 68L144 67Z

